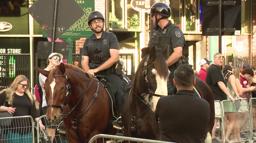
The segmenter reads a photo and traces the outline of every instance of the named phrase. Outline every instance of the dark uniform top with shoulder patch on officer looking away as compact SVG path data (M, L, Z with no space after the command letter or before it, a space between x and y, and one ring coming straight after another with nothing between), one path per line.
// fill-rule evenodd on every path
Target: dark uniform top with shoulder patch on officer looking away
M157 45L157 48L161 49L164 49L166 45L169 45L169 55L171 55L174 52L173 49L175 47L181 46L184 49L185 37L179 26L172 24L171 21L169 21L163 30L157 28L152 32L148 46L152 47L155 45Z

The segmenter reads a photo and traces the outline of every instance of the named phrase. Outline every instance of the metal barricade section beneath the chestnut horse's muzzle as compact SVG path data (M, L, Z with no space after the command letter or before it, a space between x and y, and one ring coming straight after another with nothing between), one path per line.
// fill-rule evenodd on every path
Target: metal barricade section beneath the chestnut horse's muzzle
M44 124L44 127L46 128L45 132L44 130L40 130L40 127L39 127L39 121L37 122L37 143L44 143L44 142L47 142L47 143L53 143L53 142L57 142L57 143L66 143L67 141L62 139L62 137L57 133L57 127L59 124L49 124L48 121L46 120L46 116L43 115L39 118L43 124ZM52 130L51 129L54 129L54 139L53 139L53 142L52 142L52 137L53 135L52 134Z

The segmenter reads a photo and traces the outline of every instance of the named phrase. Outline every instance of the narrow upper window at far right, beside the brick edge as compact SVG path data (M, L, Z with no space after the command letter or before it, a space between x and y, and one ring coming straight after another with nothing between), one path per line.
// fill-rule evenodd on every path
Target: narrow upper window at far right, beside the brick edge
M241 1L241 33L250 32L250 2L251 1Z

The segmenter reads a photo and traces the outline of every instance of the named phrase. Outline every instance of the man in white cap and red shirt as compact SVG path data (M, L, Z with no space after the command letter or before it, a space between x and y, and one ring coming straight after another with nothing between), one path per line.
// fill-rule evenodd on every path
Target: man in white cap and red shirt
M200 62L199 62L200 66L201 66L201 69L200 69L197 77L200 78L204 82L206 81L207 70L210 67L211 62L212 61L209 61L206 58L201 59Z

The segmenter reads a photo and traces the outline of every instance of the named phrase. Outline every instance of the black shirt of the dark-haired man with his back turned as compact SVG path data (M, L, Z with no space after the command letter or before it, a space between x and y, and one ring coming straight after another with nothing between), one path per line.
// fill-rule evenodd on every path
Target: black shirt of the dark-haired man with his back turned
M202 143L210 120L210 105L192 90L179 90L158 100L155 118L159 118L162 141Z

